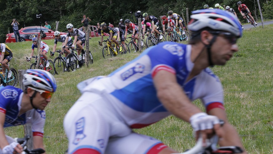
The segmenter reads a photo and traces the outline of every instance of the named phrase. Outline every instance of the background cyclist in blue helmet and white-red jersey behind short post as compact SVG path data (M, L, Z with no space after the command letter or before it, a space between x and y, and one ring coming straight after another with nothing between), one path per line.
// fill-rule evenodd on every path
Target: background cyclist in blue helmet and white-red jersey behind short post
M32 38L31 54L30 54L31 57L34 55L34 48L38 48L37 41L38 41L37 37ZM48 57L45 55L46 53L48 53L48 50L49 50L49 46L46 43L44 43L43 41L41 41L40 42L40 53L41 53L41 57L44 57L44 59L47 62L46 67L49 66ZM28 59L27 61L30 61L30 59ZM43 64L43 59L41 59L41 64Z

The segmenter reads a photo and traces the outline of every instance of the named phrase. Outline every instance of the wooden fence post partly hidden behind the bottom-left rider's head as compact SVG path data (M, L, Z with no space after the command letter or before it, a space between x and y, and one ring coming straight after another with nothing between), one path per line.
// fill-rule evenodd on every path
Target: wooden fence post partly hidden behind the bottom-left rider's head
M27 70L18 70L18 79L19 79L19 85L22 90L25 89L23 85L23 79L24 74L27 72ZM30 139L28 140L27 147L29 150L33 149L33 136L32 136L32 129L31 124L25 124L24 125L24 136L29 135Z

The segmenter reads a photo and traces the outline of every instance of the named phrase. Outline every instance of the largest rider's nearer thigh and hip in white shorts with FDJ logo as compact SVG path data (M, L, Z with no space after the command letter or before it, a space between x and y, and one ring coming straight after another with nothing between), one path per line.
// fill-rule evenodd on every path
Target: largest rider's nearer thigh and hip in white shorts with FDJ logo
M109 123L93 106L102 101L97 94L83 93L66 114L63 126L68 137L68 153L104 153L110 133Z

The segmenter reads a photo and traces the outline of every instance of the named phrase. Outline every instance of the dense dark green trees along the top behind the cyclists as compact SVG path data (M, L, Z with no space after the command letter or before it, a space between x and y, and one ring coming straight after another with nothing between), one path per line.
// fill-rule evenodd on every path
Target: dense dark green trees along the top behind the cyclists
M134 13L140 10L142 13L159 17L166 14L168 10L182 15L186 18L186 8L189 8L189 12L202 9L205 4L214 8L216 3L220 3L221 6L229 5L230 8L234 8L239 15L237 9L238 0L169 0L166 3L165 0L150 0L150 1L113 1L113 0L9 0L0 1L0 41L4 42L5 36L10 31L13 32L11 22L12 19L18 19L20 24L19 28L25 26L44 25L45 21L51 25L55 30L55 22L60 21L58 30L66 31L66 24L72 23L74 27L81 27L81 19L83 14L86 14L92 21L90 24L96 25L97 22L113 23L117 25L119 19L135 19ZM251 12L257 13L259 17L259 9L257 1L242 1L247 5ZM266 4L268 3L268 4ZM260 0L261 7L265 11L265 18L272 19L271 1ZM266 4L266 5L264 5ZM263 8L263 6L265 6ZM132 13L130 13L132 12ZM41 18L36 18L36 14L42 14ZM240 17L240 16L239 16Z

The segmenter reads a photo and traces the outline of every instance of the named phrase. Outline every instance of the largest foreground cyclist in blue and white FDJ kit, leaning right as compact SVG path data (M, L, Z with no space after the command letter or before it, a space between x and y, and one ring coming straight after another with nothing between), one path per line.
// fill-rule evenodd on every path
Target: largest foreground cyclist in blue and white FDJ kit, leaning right
M108 76L78 84L82 96L63 122L69 154L178 153L132 130L170 114L189 122L197 138L205 141L215 131L220 146L243 148L227 121L219 78L208 68L225 65L238 51L240 24L234 15L216 9L194 11L191 18L189 45L160 43ZM206 113L191 103L196 99ZM222 127L219 119L225 121Z

